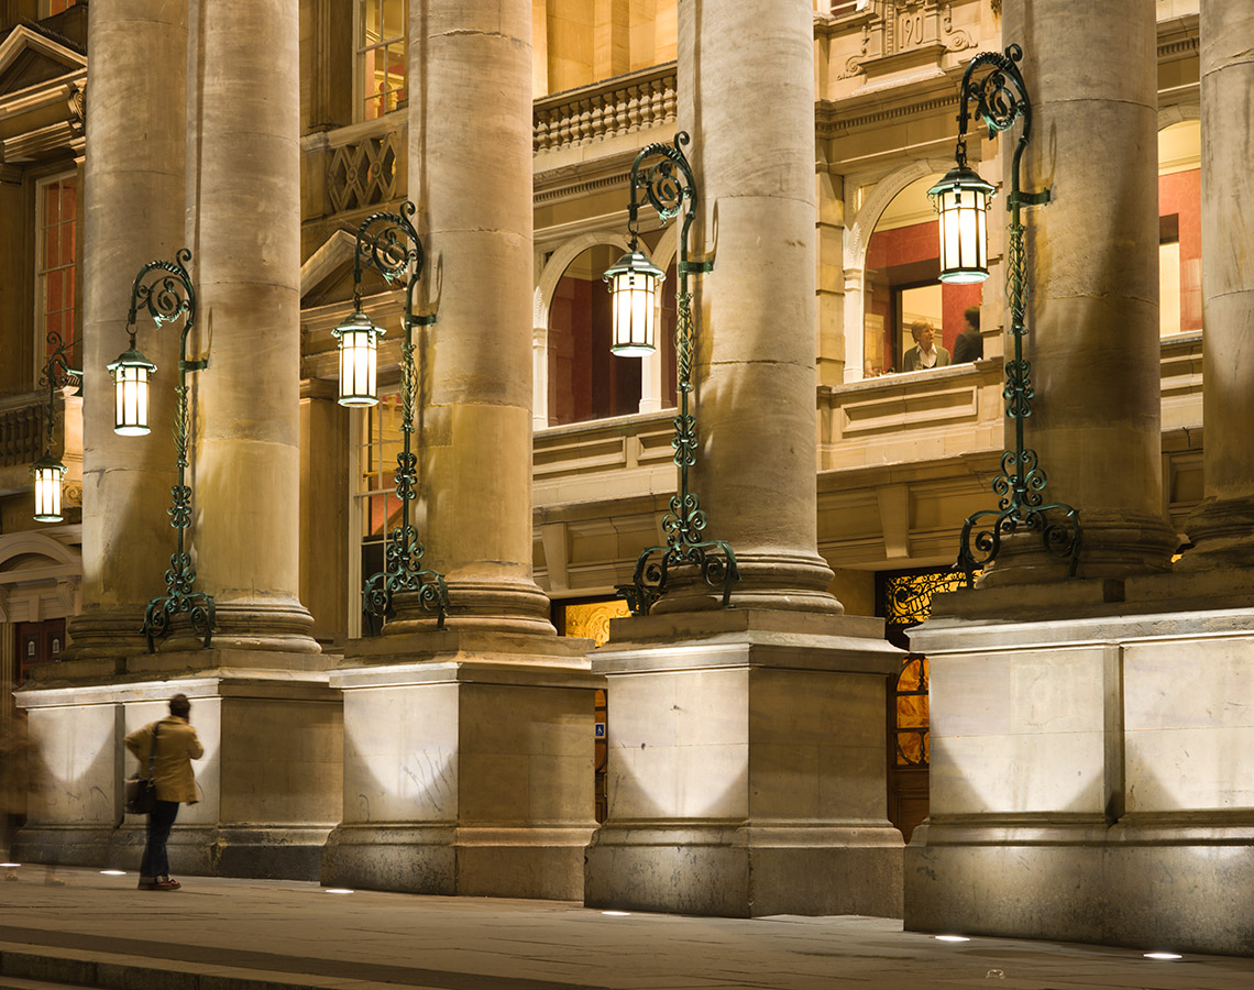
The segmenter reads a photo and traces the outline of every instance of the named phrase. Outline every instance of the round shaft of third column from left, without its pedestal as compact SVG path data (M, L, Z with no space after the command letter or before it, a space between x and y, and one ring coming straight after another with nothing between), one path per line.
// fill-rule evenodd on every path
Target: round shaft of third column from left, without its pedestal
M532 8L411 0L410 198L429 251L420 536L449 625L552 632L532 577ZM390 631L405 631L398 604Z

